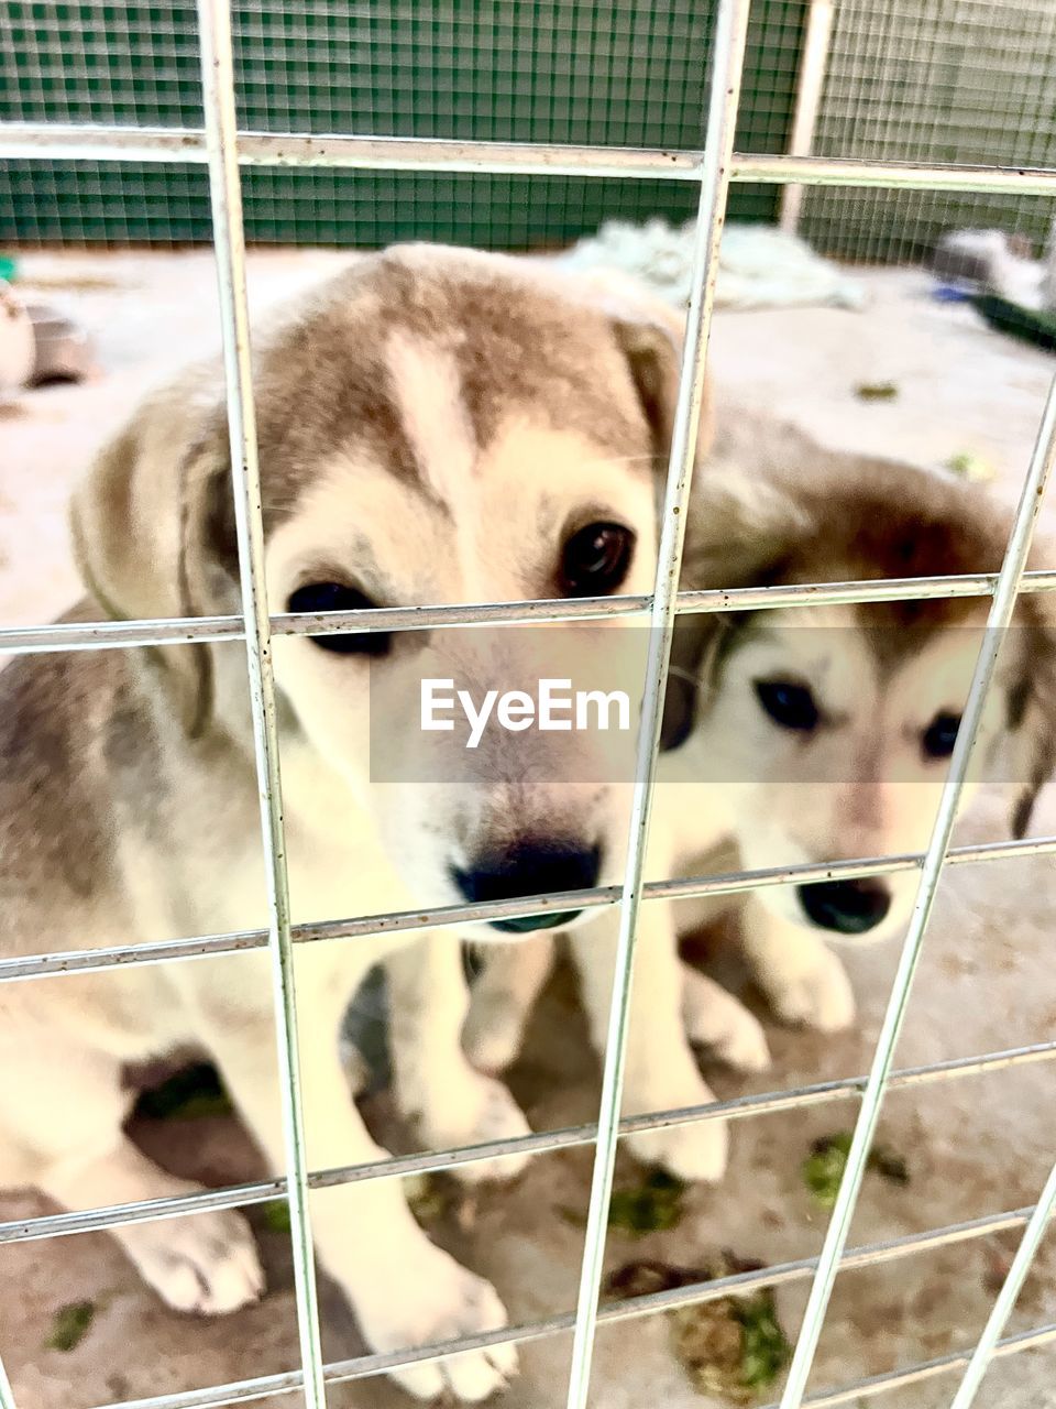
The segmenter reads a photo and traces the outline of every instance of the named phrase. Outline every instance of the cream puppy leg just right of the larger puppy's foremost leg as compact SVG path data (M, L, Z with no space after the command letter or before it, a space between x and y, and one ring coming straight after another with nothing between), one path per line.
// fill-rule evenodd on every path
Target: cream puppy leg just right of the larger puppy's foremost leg
M417 1122L425 1147L528 1134L507 1088L476 1071L462 1050L469 992L458 934L429 934L391 954L386 968L396 1098L404 1116ZM505 1155L456 1165L452 1174L469 1184L510 1179L527 1162L528 1155Z

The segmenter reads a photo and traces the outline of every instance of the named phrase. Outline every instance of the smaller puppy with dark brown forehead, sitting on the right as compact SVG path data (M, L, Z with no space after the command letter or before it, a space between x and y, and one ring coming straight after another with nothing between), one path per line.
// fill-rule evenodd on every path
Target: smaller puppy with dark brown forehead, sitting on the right
M1004 510L953 476L826 452L791 427L732 410L698 472L683 588L995 572L1008 531ZM667 712L669 743L679 747L660 759L648 878L922 851L987 604L804 604L683 617ZM967 805L981 779L1007 782L1017 837L1056 752L1050 613L1045 596L1019 600L964 789ZM748 896L743 943L777 1014L822 1031L850 1024L853 993L829 943L900 930L917 881L911 871ZM636 1006L628 1057L636 1110L646 1088L652 1109L681 1105L672 1099L666 1061L672 1030L681 1033L680 1006L694 1043L718 1043L743 1065L766 1057L762 1033L753 1047L752 1029L728 998L717 1006L714 986L696 969L669 988L666 1007L656 1000L659 955L674 952L676 930L690 929L701 909L714 913L715 903L642 909L636 982L646 983L649 1000ZM589 929L570 944L601 1050L610 981ZM549 961L551 944L539 940L489 951L466 1027L467 1050L484 1069L515 1055ZM677 1137L656 1137L676 1169Z

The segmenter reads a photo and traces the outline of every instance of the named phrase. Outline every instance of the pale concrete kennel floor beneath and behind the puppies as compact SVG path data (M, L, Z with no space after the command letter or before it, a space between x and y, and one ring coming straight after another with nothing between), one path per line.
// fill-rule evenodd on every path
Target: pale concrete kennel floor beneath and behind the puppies
M342 263L329 252L260 252L251 259L258 306ZM1002 495L1015 493L1056 364L986 330L969 310L932 303L914 271L867 271L866 313L794 310L719 314L714 368L721 390L760 400L834 447L942 464L972 452L994 465ZM34 285L34 279L39 285ZM63 503L97 444L168 371L217 342L215 294L204 252L30 256L25 287L75 313L99 347L97 379L54 387L0 407L0 620L48 620L76 593ZM860 382L894 382L894 402L863 403ZM1035 816L1036 833L1056 830L1056 789ZM960 841L1004 834L1002 799L984 796L959 830ZM943 885L917 981L898 1065L918 1065L1048 1040L1056 1029L1052 861L957 868ZM763 1078L717 1071L722 1095L791 1086L867 1068L897 954L884 945L850 957L862 1005L860 1029L838 1040L769 1023L774 1069ZM536 1129L596 1113L597 1071L567 982L549 991L514 1085ZM893 1093L881 1138L901 1153L910 1184L866 1181L855 1220L856 1244L900 1237L1028 1205L1056 1153L1048 1119L1046 1065L1018 1067L953 1084ZM375 1119L387 1124L384 1102ZM742 1122L734 1162L718 1189L696 1189L669 1233L610 1239L608 1262L665 1257L680 1264L718 1248L779 1262L815 1253L825 1216L807 1195L798 1167L819 1134L843 1130L853 1106ZM259 1172L234 1122L141 1123L138 1138L173 1169L227 1182ZM566 1309L574 1301L582 1231L567 1217L587 1200L590 1155L536 1158L521 1179L480 1196L472 1227L442 1223L436 1236L493 1278L517 1320ZM632 1177L629 1165L625 1177ZM0 1219L42 1212L31 1193L0 1199ZM562 1212L565 1210L565 1213ZM193 1320L165 1309L138 1282L111 1241L86 1234L0 1247L0 1354L20 1409L87 1409L122 1398L210 1385L296 1364L291 1274L286 1239L262 1231L269 1272L263 1302L222 1320ZM887 1267L845 1274L822 1337L815 1386L879 1374L970 1346L1007 1264L1015 1236L966 1241ZM69 1353L45 1350L55 1312L90 1299L99 1310ZM804 1286L779 1293L794 1332ZM358 1348L351 1316L324 1298L328 1357ZM1011 1329L1056 1320L1056 1248L1042 1250ZM674 1363L662 1319L627 1323L598 1337L597 1409L710 1409ZM569 1341L529 1346L524 1372L503 1409L563 1405ZM1000 1361L980 1409L1056 1406L1056 1351ZM941 1409L949 1377L887 1395L891 1409ZM272 1401L262 1401L272 1403ZM298 1396L273 1401L293 1405ZM865 1402L865 1401L859 1401ZM872 1402L872 1401L869 1401ZM380 1381L331 1392L331 1409L400 1409ZM718 1409L715 1403L714 1409Z

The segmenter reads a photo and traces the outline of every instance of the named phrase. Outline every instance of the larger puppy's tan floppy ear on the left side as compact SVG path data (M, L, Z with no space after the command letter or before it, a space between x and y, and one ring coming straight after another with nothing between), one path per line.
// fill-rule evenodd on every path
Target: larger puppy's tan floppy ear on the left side
M103 448L75 492L73 548L82 578L108 617L203 616L234 542L222 410L193 382L151 397ZM211 647L145 648L191 735L211 707Z

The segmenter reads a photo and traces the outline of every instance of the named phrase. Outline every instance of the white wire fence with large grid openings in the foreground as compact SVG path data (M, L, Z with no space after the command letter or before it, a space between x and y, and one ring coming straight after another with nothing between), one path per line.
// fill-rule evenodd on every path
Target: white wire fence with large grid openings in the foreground
M573 1336L567 1386L569 1409L584 1409L590 1395L591 1354L597 1326L612 1320L652 1315L674 1306L705 1302L735 1291L810 1281L810 1296L780 1405L769 1409L798 1409L801 1405L841 1405L867 1401L935 1377L962 1372L953 1409L969 1409L979 1385L995 1357L1056 1340L1056 1326L1041 1326L1004 1337L1031 1260L1056 1206L1056 1172L1039 1192L1033 1208L997 1212L967 1223L956 1223L888 1243L848 1247L862 1175L884 1096L905 1086L964 1079L974 1074L1049 1061L1056 1041L1005 1051L983 1053L904 1071L893 1069L893 1055L901 1033L914 974L925 941L936 886L946 865L983 864L1008 857L1056 854L1056 837L976 847L950 847L956 806L969 765L970 751L987 689L991 682L998 641L1008 626L1015 600L1024 590L1056 589L1056 572L1025 571L1041 500L1056 459L1056 380L1049 393L1038 441L1025 475L1019 506L1001 571L997 575L911 579L888 583L857 582L796 588L742 589L736 592L676 593L681 559L693 448L700 416L701 387L707 358L711 303L718 245L731 182L798 182L822 187L855 186L884 190L949 190L1001 194L1052 194L1056 169L912 165L845 156L804 158L783 155L741 156L732 151L738 113L741 72L749 0L721 0L714 35L712 83L704 151L638 151L605 147L560 147L542 144L491 144L420 141L394 137L348 134L283 135L238 132L235 124L235 75L231 46L228 0L199 0L201 39L201 82L206 123L203 130L149 130L75 127L58 124L1 124L0 156L48 161L56 156L94 162L151 161L162 163L204 162L208 168L214 244L221 294L228 424L238 523L242 583L242 613L228 617L200 617L176 621L121 621L17 627L0 631L0 650L7 652L54 650L134 648L153 643L200 643L244 640L249 662L253 728L260 793L260 820L268 861L269 926L231 934L190 936L165 943L118 944L61 954L30 955L0 961L0 981L30 981L44 975L106 969L125 964L156 964L208 958L248 948L268 948L272 957L276 1027L283 1084L283 1115L287 1178L258 1181L225 1189L113 1205L77 1213L58 1213L21 1222L0 1223L0 1244L58 1237L114 1227L146 1219L246 1206L284 1196L290 1208L297 1317L301 1365L287 1372L235 1384L186 1391L151 1399L125 1401L104 1409L206 1409L248 1403L269 1395L301 1392L308 1409L324 1409L327 1385L358 1379L389 1370L503 1341L529 1341L543 1336ZM249 325L245 297L245 247L241 218L239 166L359 166L411 170L524 172L541 178L576 173L604 178L649 178L696 182L700 187L698 245L693 296L687 320L686 356L681 369L676 426L663 509L655 590L648 597L615 597L513 604L476 603L463 607L415 607L369 613L331 613L325 617L269 614L263 575L263 526L256 464ZM659 748L660 706L669 664L674 619L684 612L724 612L745 606L780 609L804 599L821 602L879 602L908 597L988 596L988 630L976 664L963 724L950 762L948 781L926 851L921 855L869 857L832 865L791 867L781 871L739 872L727 876L643 883L642 867L649 828L652 781ZM624 881L556 896L487 905L445 906L427 912L398 912L353 916L321 924L293 924L290 920L284 838L282 824L282 779L270 668L272 634L338 630L408 630L421 626L472 624L480 621L539 621L589 619L614 614L648 617L650 657L643 692L639 733L634 824L631 827ZM880 875L919 871L912 919L893 982L887 1013L872 1068L860 1076L714 1102L707 1106L653 1112L620 1119L624 1038L634 969L636 916L641 903L655 898L689 898L750 890L767 885L800 883L836 875ZM304 1153L301 1096L297 1069L297 1007L293 983L293 945L338 943L370 934L427 930L436 926L469 926L489 919L558 913L569 909L621 906L620 962L612 993L611 1023L604 1064L603 1095L596 1124L567 1127L520 1140L491 1141L472 1148L431 1151L342 1169L310 1169ZM605 1241L608 1198L617 1141L629 1131L660 1129L717 1117L748 1119L769 1112L800 1109L826 1102L855 1100L859 1116L848 1157L846 1172L817 1257L698 1282L672 1292L636 1296L627 1302L598 1305L601 1262ZM573 1146L594 1146L594 1178L574 1310L539 1322L507 1327L444 1344L411 1347L384 1355L362 1355L351 1361L324 1364L320 1346L320 1317L314 1282L308 1192L337 1184L397 1178L413 1172L449 1169L476 1160L513 1151L542 1153ZM832 1285L841 1270L893 1262L929 1248L1022 1230L1019 1250L993 1306L986 1329L969 1353L955 1353L922 1361L905 1370L859 1379L853 1384L807 1394L818 1339L825 1320ZM17 1409L11 1385L0 1367L0 1409ZM100 1406L103 1409L103 1406Z

